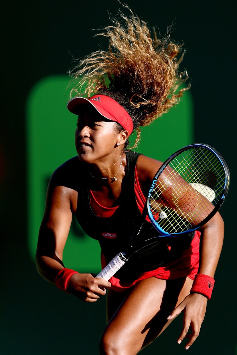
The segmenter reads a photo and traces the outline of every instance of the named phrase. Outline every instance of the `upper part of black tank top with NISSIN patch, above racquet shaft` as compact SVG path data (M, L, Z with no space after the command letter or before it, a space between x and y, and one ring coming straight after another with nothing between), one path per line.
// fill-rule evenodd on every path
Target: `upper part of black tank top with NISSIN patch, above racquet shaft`
M118 198L119 207L108 218L98 217L91 208L89 197L89 184L91 176L86 171L87 178L84 186L80 186L77 209L75 212L77 221L87 235L97 239L107 261L110 261L117 253L124 249L126 242L134 233L136 227L141 224L141 213L138 209L134 191L134 172L136 161L140 154L125 152L126 173L122 181L122 192ZM149 234L153 228L149 222L145 225ZM154 232L154 231L153 231Z

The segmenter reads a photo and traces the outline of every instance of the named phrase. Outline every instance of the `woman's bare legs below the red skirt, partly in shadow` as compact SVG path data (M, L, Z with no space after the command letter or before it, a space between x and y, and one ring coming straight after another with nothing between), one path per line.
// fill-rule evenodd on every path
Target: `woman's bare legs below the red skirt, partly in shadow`
M129 293L117 294L116 298L112 291L108 297L108 316L116 302L125 298L104 330L100 354L137 354L171 323L167 316L189 294L191 286L192 280L188 278L166 281L152 277L138 282Z

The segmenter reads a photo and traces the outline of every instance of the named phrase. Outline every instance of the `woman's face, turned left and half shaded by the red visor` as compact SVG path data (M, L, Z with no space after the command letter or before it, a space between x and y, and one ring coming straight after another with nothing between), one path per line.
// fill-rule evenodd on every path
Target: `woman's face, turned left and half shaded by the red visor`
M82 107L77 120L75 144L79 159L98 163L113 154L119 133L116 123L109 121L90 106Z

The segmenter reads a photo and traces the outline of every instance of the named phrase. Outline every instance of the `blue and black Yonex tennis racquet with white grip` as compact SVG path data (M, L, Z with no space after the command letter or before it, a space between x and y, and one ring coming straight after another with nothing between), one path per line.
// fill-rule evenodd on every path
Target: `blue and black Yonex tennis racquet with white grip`
M148 215L160 235L172 237L192 232L218 211L230 185L225 160L207 144L190 144L173 153L152 180L141 215L141 226L135 231L124 251L97 275L109 280L128 258L141 250L140 232Z

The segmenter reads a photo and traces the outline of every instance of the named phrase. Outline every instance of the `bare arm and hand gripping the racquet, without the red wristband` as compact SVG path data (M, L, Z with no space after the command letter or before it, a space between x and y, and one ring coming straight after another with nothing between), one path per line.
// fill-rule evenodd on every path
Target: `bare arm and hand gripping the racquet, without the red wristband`
M45 212L39 230L36 266L38 272L50 283L55 284L58 272L64 268L63 250L70 230L71 203L75 191L64 186L49 184ZM95 279L91 274L72 275L67 291L88 302L96 301L106 293L111 284Z

